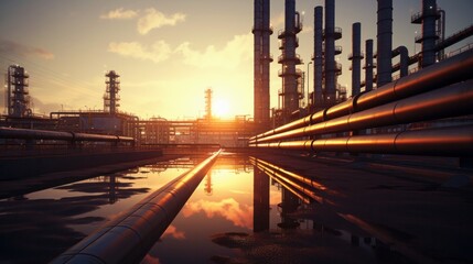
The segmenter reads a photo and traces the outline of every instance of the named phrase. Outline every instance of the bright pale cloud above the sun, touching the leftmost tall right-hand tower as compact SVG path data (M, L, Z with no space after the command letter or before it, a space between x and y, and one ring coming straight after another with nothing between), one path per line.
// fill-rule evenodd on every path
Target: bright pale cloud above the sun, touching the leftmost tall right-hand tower
M183 43L176 52L182 54L187 65L204 67L235 68L240 62L247 61L252 55L252 35L235 35L222 50L209 45L204 52L195 51L191 43Z

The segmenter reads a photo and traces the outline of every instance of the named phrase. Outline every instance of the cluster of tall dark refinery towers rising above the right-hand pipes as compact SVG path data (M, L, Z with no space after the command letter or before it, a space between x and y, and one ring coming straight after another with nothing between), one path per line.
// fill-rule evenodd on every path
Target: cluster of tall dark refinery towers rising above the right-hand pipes
M303 64L297 54L300 45L298 33L302 30L301 16L295 11L294 0L284 0L284 29L278 33L281 55L278 63L281 69L278 75L282 78L282 87L279 90L279 109L272 111L273 122L267 122L270 109L266 108L261 113L261 106L267 106L267 75L266 66L272 59L269 53L269 41L262 37L269 35L272 29L269 26L269 2L255 1L255 122L279 127L295 119L333 107L347 100L347 87L338 84L342 75L342 65L336 62L336 56L342 54L342 46L336 41L342 37L342 29L335 25L335 0L325 0L324 7L314 8L313 24L313 73L304 73L298 65ZM262 7L262 8L261 8ZM408 76L449 57L444 50L473 35L473 25L445 36L445 12L437 6L436 0L422 0L421 10L411 16L412 24L420 24L421 34L416 36L416 43L421 44L419 53L409 55L406 46L393 47L393 1L377 1L377 37L365 41L365 52L362 51L362 24L354 22L352 26L352 51L348 59L352 84L351 96L357 97L361 92L368 92L376 87L381 87L396 79ZM262 11L261 11L262 10ZM266 10L266 12L264 12ZM265 24L266 21L266 24ZM257 29L257 30L255 30ZM345 29L346 32L346 29ZM304 43L307 44L307 43ZM374 50L376 45L376 50ZM466 45L460 51L450 53L458 55L472 48ZM345 48L346 50L346 48ZM393 64L399 56L399 63ZM363 64L363 65L362 65ZM364 69L362 79L362 68ZM308 67L309 69L309 67ZM304 75L313 76L313 86L308 95L308 105L302 105L304 99Z

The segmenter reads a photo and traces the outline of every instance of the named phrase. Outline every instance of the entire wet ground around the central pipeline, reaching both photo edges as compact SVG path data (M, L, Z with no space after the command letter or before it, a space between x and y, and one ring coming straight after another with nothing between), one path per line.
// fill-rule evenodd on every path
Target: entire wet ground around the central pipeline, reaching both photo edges
M0 200L0 263L47 263L201 160ZM471 172L395 165L224 153L143 263L473 262L471 184L444 185Z

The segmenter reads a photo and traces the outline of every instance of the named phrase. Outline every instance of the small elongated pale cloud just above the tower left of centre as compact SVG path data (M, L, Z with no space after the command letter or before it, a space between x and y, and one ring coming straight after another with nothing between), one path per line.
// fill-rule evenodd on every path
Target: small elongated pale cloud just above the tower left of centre
M108 44L108 52L153 63L168 59L172 53L170 45L164 41L157 41L151 46L138 42L111 42Z

